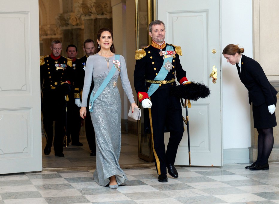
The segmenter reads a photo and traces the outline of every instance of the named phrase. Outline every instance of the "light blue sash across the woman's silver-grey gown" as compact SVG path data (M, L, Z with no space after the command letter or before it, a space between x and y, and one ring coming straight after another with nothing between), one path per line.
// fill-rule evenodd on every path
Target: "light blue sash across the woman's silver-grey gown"
M119 60L120 55L116 54L115 55L115 60ZM101 84L101 86L98 88L97 92L95 93L95 95L93 96L93 91L90 94L90 100L89 100L89 112L93 112L93 102L98 98L98 96L104 91L104 88L106 88L107 84L110 82L111 78L113 77L113 74L118 71L118 69L116 69L114 67L114 64L110 70L110 72L108 73L107 77L105 78L105 80L103 81L103 83Z

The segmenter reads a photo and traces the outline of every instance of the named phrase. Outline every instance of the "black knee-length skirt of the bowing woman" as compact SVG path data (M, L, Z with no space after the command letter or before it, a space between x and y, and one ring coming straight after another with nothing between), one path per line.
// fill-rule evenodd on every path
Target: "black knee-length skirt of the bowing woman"
M274 105L276 106L277 98L274 97ZM270 115L266 103L260 106L254 106L253 104L253 118L254 128L267 129L277 125L275 113Z

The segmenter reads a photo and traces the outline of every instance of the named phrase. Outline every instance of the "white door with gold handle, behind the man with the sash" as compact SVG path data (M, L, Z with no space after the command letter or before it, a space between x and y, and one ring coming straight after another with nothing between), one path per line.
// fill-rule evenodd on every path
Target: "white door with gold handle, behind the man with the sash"
M204 83L210 97L191 101L188 108L191 165L221 166L221 80L219 0L158 0L158 19L166 25L167 43L181 46L182 67L188 80ZM216 49L216 53L212 53ZM217 83L209 77L217 68ZM182 109L186 118L185 109ZM186 125L176 165L189 165ZM165 134L167 143L169 133Z

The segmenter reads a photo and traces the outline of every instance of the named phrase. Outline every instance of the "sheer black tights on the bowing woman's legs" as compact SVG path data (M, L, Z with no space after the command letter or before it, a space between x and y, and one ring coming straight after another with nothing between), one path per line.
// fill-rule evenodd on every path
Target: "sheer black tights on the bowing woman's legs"
M264 165L268 163L268 158L271 153L273 147L273 128L267 129L259 129L257 128L259 133L258 136L258 157L256 160L256 164L260 163L260 165Z

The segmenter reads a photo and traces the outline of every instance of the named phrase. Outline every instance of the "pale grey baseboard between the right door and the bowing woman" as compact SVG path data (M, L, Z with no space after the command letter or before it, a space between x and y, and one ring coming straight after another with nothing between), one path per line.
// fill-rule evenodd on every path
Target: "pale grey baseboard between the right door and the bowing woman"
M249 149L248 147L224 149L223 158L224 164L249 163Z

